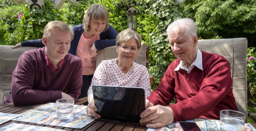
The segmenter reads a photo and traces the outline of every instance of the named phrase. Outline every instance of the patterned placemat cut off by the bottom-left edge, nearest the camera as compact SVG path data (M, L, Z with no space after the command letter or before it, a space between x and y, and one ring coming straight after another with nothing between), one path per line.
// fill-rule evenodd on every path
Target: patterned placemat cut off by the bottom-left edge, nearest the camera
M0 131L66 131L62 129L48 128L44 126L32 126L26 124L11 123L0 128Z

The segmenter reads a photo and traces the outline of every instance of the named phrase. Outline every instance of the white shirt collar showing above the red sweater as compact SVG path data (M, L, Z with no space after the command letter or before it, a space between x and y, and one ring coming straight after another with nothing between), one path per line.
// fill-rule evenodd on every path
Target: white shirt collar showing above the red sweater
M196 60L190 65L189 68L185 66L185 63L183 61L180 61L180 64L174 69L174 71L178 71L181 69L186 70L188 73L191 72L191 70L194 68L194 66L197 66L200 70L203 70L203 59L202 59L202 52L197 48L197 55Z

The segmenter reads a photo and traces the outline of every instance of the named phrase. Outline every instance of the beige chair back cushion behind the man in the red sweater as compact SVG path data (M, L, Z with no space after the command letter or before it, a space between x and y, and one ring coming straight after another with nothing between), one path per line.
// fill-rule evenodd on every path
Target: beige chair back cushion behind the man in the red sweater
M228 59L236 105L247 116L247 38L198 40L197 47L201 51L216 53Z

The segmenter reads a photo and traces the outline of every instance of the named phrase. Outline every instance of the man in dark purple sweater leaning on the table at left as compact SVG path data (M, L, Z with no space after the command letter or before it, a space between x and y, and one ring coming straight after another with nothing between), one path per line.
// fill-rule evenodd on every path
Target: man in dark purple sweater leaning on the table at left
M21 106L61 98L76 102L82 86L82 61L68 54L73 37L68 24L49 22L43 33L45 47L21 54L12 73L11 93L4 103Z

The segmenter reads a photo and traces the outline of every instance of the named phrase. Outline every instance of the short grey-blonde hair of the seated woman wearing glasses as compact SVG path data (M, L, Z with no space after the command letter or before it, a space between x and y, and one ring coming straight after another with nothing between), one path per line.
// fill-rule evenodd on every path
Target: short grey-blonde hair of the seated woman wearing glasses
M138 48L141 47L141 36L131 28L121 31L116 37L116 45L121 45L129 39L135 38Z

